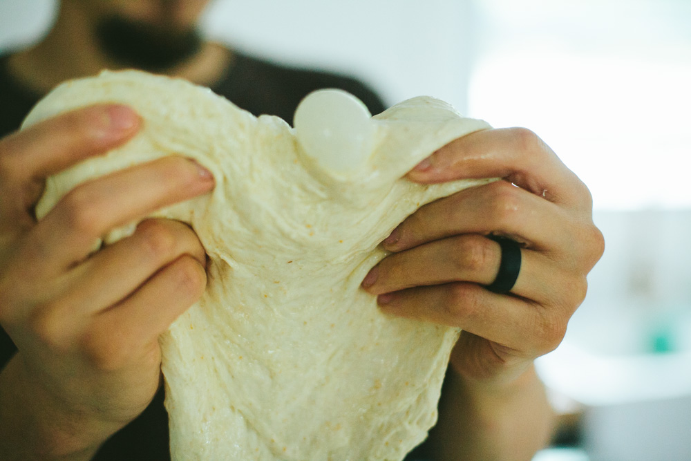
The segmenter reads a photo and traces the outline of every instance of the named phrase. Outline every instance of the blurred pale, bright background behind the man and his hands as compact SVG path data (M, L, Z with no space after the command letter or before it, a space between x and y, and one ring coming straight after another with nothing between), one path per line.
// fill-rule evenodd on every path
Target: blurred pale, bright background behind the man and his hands
M52 0L0 0L0 53ZM207 35L536 131L589 186L607 250L539 368L536 461L691 460L691 0L217 0Z

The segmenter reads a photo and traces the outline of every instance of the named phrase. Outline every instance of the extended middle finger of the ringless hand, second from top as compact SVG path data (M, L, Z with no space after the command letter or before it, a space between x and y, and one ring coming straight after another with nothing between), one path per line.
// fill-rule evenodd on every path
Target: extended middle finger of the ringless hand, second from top
M49 258L49 270L61 270L84 260L109 230L213 187L211 173L196 162L153 160L75 187L32 229L28 241L34 252Z

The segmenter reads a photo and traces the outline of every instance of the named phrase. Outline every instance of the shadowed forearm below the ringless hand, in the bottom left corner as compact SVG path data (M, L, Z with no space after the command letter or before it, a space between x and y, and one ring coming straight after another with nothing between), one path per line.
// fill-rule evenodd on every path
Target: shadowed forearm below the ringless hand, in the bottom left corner
M97 424L68 414L32 386L19 356L0 372L1 460L90 460L99 432Z

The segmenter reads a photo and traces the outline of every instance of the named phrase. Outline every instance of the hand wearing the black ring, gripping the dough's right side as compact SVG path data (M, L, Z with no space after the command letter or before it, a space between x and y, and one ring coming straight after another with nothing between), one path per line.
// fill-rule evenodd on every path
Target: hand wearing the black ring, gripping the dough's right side
M531 131L467 135L408 173L424 184L490 177L504 180L425 205L401 223L384 241L392 254L363 286L384 312L462 328L451 366L471 382L502 385L560 344L604 243L587 187ZM488 234L522 244L509 294L484 288L501 258Z

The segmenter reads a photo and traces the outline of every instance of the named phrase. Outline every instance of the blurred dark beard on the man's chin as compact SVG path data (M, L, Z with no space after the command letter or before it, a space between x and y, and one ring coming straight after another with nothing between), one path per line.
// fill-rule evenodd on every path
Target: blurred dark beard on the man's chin
M115 62L147 70L169 70L195 55L202 48L196 27L175 30L162 26L109 17L96 28L101 49Z

